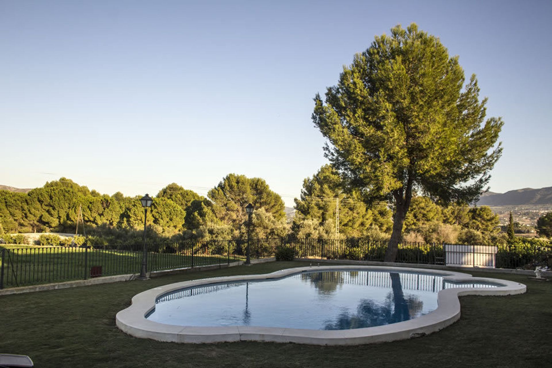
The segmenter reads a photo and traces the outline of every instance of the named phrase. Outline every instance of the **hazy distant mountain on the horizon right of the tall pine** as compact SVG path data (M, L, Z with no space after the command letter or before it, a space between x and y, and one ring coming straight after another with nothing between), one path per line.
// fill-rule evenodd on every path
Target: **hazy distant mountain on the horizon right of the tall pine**
M533 189L523 188L506 193L487 192L481 195L478 206L552 205L552 186Z

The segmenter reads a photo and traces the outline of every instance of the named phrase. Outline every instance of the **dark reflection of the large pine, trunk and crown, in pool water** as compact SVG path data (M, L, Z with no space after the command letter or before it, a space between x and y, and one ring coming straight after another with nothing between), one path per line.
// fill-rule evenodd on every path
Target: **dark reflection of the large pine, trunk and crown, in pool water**
M324 329L338 330L382 326L384 324L408 321L417 317L423 302L416 296L405 298L398 273L390 273L392 292L383 305L369 299L362 299L356 313L343 312L335 321L326 321Z

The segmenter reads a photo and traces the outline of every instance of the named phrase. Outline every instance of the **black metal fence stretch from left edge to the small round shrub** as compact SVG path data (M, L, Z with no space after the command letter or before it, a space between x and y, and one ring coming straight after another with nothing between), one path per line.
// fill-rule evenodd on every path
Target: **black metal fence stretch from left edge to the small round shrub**
M253 239L251 257L272 257L280 239ZM147 244L147 272L245 260L247 242ZM98 247L0 248L0 289L140 272L143 244Z

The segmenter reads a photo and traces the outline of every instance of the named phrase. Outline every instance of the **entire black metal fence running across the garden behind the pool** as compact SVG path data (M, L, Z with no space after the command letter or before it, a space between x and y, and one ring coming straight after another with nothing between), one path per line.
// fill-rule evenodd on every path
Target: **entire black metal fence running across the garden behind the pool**
M147 245L147 271L230 264L245 260L241 240L187 241ZM310 259L384 260L387 242L348 239L252 239L251 258L273 257L278 246L291 247L296 257ZM82 280L98 276L137 274L142 244L100 247L0 248L0 289ZM438 243L401 243L397 263L442 264L496 268L552 266L552 247L485 247Z

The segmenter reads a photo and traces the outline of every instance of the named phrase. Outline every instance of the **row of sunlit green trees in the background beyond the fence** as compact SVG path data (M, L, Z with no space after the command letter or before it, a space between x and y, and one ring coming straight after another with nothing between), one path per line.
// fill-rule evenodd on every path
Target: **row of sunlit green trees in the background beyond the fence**
M100 194L67 178L28 193L0 190L0 233L73 233L81 211L85 228L79 225L78 231L86 231L89 243L140 242L144 227L140 198L120 192ZM254 206L254 238L383 240L390 237L394 212L386 203L369 206L358 193L343 191L337 170L325 165L304 180L301 196L295 199L295 216L288 222L284 201L265 180L228 174L209 190L207 198L176 183L161 189L148 212L148 238L244 238L248 203ZM405 240L417 242L483 242L498 232L498 216L489 207L440 207L424 196L415 196L405 224Z

